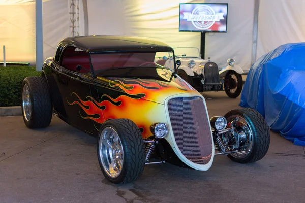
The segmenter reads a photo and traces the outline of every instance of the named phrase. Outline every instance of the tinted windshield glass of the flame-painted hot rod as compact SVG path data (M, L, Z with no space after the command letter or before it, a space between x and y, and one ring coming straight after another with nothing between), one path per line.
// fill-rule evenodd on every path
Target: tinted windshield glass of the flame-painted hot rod
M125 67L163 67L168 52L128 52L128 53L103 53L90 54L93 70L95 73L109 69L120 69ZM171 53L172 55L172 53ZM161 64L161 65L160 65Z

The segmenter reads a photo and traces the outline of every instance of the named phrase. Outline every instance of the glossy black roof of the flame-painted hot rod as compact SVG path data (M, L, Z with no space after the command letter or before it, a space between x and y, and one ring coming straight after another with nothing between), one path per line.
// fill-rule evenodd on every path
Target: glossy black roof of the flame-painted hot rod
M162 51L173 52L173 49L158 40L127 36L77 36L68 37L59 42L61 45L73 45L89 53L119 51Z

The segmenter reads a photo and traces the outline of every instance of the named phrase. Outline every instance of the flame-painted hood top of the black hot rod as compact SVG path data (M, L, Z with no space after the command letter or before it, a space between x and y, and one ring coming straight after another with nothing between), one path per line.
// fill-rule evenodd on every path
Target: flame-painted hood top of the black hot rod
M165 99L169 96L197 92L179 76L175 75L176 77L174 77L172 73L168 69L149 67L146 76L143 74L126 74L123 77L118 74L108 77L98 76L97 80L129 97L154 101L159 104L164 104Z

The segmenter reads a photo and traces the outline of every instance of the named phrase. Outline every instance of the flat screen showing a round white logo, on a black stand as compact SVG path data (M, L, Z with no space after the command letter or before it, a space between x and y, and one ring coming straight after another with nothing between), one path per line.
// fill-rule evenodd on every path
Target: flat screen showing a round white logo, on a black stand
M179 31L227 32L228 4L180 4Z

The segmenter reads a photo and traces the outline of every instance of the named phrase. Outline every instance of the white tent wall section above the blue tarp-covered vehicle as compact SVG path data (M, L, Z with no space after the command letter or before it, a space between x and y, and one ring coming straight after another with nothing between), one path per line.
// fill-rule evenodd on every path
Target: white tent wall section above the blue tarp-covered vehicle
M305 42L305 1L260 1L257 59L280 45Z

